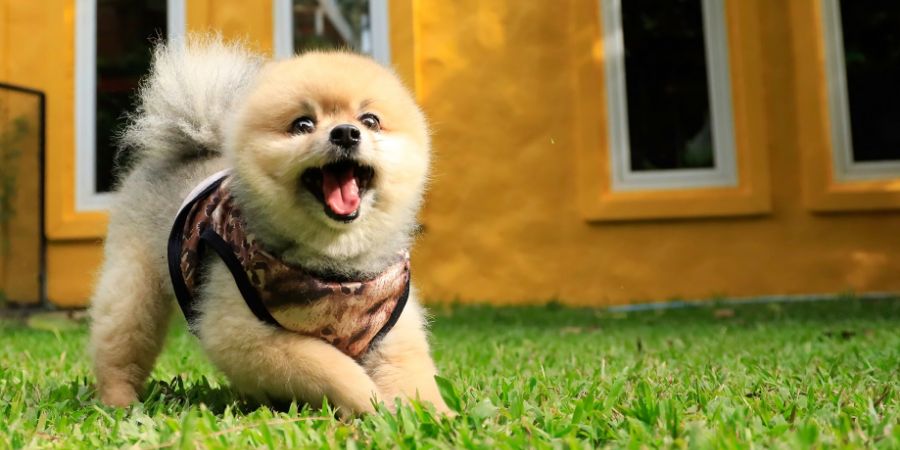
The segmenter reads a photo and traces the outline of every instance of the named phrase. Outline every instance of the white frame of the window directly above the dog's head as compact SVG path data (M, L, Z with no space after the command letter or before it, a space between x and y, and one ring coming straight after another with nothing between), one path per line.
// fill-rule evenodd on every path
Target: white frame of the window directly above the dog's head
M332 23L339 23L341 19L337 4L334 0L319 0L325 16ZM275 24L274 39L275 57L289 58L294 55L294 14L291 10L292 0L274 0L272 5L272 23ZM320 18L319 20L324 20ZM370 54L376 61L385 66L391 64L390 42L390 16L388 0L369 0L369 21L371 35L363 35L363 52ZM338 31L340 26L336 26ZM366 48L370 46L370 48Z

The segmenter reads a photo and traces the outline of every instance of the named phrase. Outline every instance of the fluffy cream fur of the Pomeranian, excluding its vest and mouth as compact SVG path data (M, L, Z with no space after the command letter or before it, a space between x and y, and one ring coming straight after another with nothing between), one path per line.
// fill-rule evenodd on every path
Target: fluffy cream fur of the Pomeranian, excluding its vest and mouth
M298 178L328 161L328 131L359 126L362 112L377 114L384 129L360 126L359 159L376 177L359 218L345 224L328 218ZM304 115L317 119L316 131L289 133ZM267 248L313 270L362 276L410 245L429 164L424 117L370 59L325 52L263 63L217 38L157 49L123 143L137 162L110 211L90 341L98 394L117 406L138 399L162 348L174 304L166 240L198 182L232 169L243 216ZM342 414L415 397L447 411L414 292L396 326L357 362L324 341L260 322L224 264L210 261L194 325L208 357L240 391L314 405L327 397Z

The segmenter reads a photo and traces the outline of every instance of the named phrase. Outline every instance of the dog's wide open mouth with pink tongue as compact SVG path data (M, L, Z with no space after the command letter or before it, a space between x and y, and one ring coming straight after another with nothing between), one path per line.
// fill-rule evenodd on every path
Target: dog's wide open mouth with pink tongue
M375 169L347 159L306 169L300 181L322 202L328 217L352 222L359 217L362 196L374 176Z

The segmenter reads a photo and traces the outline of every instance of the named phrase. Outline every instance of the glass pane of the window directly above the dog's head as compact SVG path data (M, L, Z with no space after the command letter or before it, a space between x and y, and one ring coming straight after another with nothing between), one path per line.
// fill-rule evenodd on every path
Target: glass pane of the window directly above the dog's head
M294 51L350 48L371 52L368 0L294 0Z

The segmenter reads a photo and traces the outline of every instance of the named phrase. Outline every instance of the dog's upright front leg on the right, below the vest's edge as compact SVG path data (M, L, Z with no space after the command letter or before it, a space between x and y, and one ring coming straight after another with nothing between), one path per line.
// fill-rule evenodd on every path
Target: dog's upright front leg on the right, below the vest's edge
M428 348L424 311L411 294L393 329L366 357L366 366L386 402L420 399L431 402L442 413L444 403L434 376L437 369Z

